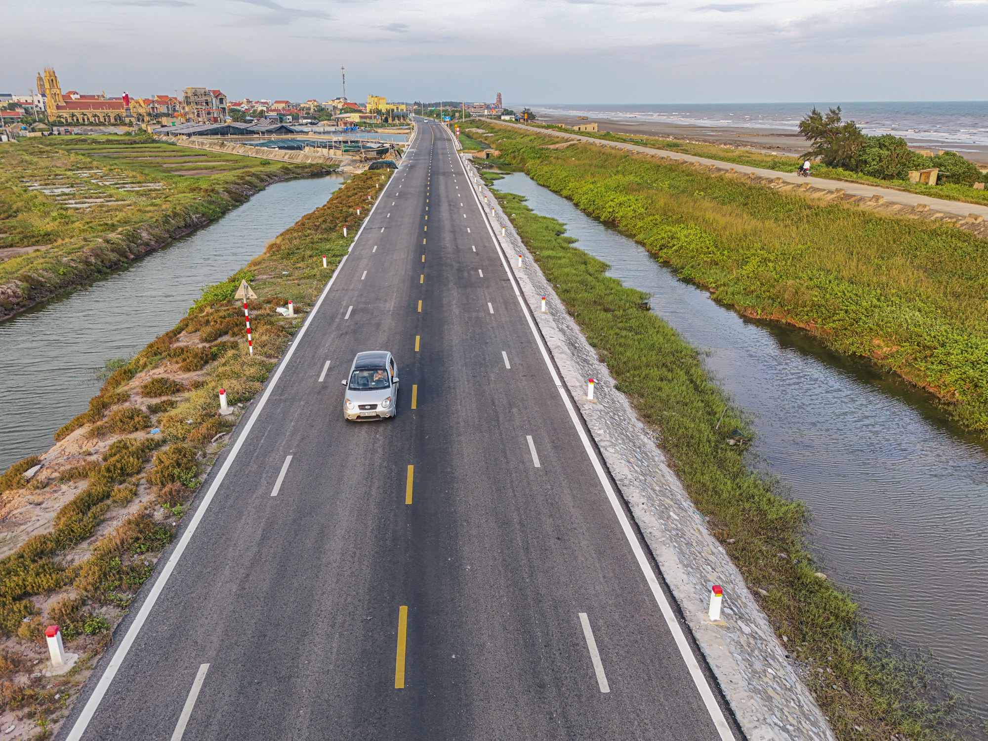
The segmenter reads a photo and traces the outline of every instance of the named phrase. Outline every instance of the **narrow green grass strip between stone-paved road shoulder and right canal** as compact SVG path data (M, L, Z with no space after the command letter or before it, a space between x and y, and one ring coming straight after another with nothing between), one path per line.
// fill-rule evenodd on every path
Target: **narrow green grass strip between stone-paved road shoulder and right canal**
M739 448L727 445L734 428L751 432L743 412L710 382L697 351L641 310L646 294L606 277L603 262L557 236L565 231L560 222L533 213L518 196L498 199L618 390L660 431L671 465L777 633L788 638L838 738L950 738L947 728L959 717L955 699L943 686L932 690L923 660L897 658L869 631L854 601L815 575L803 506L776 494L747 469Z

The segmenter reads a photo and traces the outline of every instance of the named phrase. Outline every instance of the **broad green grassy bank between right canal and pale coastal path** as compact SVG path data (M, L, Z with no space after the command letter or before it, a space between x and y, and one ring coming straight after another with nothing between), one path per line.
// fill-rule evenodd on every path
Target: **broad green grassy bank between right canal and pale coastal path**
M490 125L490 124L488 124ZM822 206L672 163L503 131L502 160L683 277L924 386L988 430L988 245L935 221Z

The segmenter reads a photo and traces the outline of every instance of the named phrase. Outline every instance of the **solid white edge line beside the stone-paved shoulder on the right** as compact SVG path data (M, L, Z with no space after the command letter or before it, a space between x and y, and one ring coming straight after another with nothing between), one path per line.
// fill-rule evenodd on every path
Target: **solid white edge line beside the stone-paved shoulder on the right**
M462 162L462 160L460 160L459 166L463 168L463 175L465 176L466 165ZM484 223L487 226L487 233L490 234L491 240L498 248L498 254L501 257L501 264L504 266L504 270L508 274L508 279L511 281L512 288L515 289L515 296L518 298L518 302L522 306L522 313L525 315L525 318L528 319L529 329L532 330L532 336L535 337L535 345L538 347L538 350L542 355L542 360L545 362L545 366L548 368L549 374L552 376L552 381L556 385L556 390L559 391L559 396L562 398L562 403L566 407L566 411L569 412L569 418L572 421L573 426L576 428L576 433L579 435L580 441L583 443L583 450L586 451L587 456L590 458L590 462L593 464L594 470L597 472L597 478L600 480L601 486L604 487L604 492L607 494L608 500L611 502L611 508L615 511L617 522L619 523L621 530L624 532L624 536L627 538L628 544L631 546L631 552L638 561L638 566L641 568L641 572L645 575L645 581L648 582L649 589L652 591L652 597L655 598L655 602L662 611L662 617L665 617L666 619L666 624L669 626L669 632L672 633L673 639L676 641L676 647L679 648L680 656L683 657L683 661L686 663L686 667L690 672L690 677L693 679L694 684L697 686L697 690L700 692L700 699L703 700L703 704L706 706L706 711L710 714L710 719L713 720L717 733L720 734L721 741L736 741L734 734L731 733L730 726L727 725L727 720L724 718L724 713L720 710L720 705L717 704L717 700L713 697L713 692L710 690L710 686L707 684L706 678L703 676L703 672L700 671L700 664L697 662L697 657L693 655L693 651L690 649L690 643L686 639L686 635L683 632L683 627L679 624L679 620L676 619L676 614L673 612L672 606L669 604L669 600L666 599L665 594L662 592L662 587L659 586L659 580L655 578L655 574L652 572L652 567L648 563L648 558L645 556L645 552L642 550L641 544L638 542L638 538L635 537L634 531L631 529L631 524L628 522L627 516L624 514L624 510L620 506L620 502L617 499L617 492L614 490L614 487L611 486L607 473L604 471L604 466L601 465L601 461L597 458L597 454L594 453L594 448L590 444L590 438L587 437L587 433L584 432L583 426L580 424L580 418L576 414L576 409L573 408L573 404L570 402L569 396L566 395L566 389L563 385L562 379L552 366L552 361L549 358L548 351L545 349L545 345L542 343L542 338L538 334L538 328L535 326L535 318L532 315L532 311L530 310L529 305L525 302L525 296L522 295L522 290L519 288L518 282L515 280L515 275L511 272L511 268L508 266L508 254L505 251L504 246L501 244L501 241L495 236L494 229L491 228L490 220L487 218L487 212L484 209L484 206L480 203L480 197L475 193L473 194L473 202L476 204L484 218Z

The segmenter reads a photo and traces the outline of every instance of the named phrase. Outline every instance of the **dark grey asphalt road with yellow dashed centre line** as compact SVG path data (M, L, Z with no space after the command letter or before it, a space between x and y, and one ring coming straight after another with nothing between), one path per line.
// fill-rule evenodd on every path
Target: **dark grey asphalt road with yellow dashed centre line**
M418 129L60 738L724 737L451 138ZM397 360L393 420L343 419L365 350Z

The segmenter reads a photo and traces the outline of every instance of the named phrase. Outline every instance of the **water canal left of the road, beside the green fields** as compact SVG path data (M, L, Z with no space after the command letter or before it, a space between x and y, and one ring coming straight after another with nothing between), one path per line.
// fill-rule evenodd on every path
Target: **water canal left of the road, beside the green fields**
M53 444L86 410L96 371L175 326L200 296L322 206L343 178L276 183L202 229L114 274L0 322L0 470Z

